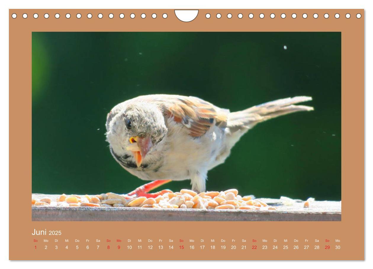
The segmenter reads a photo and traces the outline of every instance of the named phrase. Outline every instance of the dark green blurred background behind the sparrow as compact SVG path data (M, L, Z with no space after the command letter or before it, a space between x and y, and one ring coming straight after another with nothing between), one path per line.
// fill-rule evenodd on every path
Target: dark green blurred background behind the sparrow
M106 115L159 93L231 111L312 96L313 112L245 134L207 189L341 200L340 32L33 32L32 192L128 193L146 183L111 156Z

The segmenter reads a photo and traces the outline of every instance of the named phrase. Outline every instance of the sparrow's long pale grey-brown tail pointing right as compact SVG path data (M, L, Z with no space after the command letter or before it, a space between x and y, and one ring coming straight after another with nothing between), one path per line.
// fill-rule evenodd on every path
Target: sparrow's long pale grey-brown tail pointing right
M242 111L232 112L228 115L227 127L231 133L234 133L239 130L248 130L259 122L278 116L298 111L311 111L313 110L311 106L295 105L311 100L312 97L308 96L289 97L253 106Z

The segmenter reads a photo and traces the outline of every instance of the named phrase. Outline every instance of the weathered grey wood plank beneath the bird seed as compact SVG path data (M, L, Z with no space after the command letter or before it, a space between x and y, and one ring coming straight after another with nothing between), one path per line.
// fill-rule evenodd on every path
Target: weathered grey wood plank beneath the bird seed
M57 195L33 194L33 198ZM339 221L341 202L314 201L309 208L303 202L291 206L278 199L261 198L277 210L153 209L138 207L51 207L32 206L36 221Z

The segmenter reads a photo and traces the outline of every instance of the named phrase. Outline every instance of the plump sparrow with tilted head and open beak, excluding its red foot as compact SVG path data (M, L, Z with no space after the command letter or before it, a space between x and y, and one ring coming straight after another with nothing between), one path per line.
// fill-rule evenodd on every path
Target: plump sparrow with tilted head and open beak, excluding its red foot
M207 172L225 161L257 123L313 107L297 96L230 112L192 96L155 94L117 104L107 115L106 138L115 160L144 180L191 179L206 190Z

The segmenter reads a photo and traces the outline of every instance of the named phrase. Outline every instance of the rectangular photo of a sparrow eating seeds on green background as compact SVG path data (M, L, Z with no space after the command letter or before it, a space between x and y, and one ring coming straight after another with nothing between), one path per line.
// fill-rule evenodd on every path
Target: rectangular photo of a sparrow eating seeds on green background
M32 220L341 221L341 32L32 32Z

